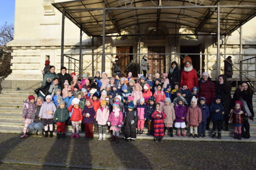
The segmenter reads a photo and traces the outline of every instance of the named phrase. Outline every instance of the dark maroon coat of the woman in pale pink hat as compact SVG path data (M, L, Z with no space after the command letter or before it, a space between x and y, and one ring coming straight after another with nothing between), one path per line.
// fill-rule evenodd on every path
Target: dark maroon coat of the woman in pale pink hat
M202 80L199 82L199 92L197 93L197 98L204 97L205 104L209 105L215 100L215 83L207 80L205 83Z

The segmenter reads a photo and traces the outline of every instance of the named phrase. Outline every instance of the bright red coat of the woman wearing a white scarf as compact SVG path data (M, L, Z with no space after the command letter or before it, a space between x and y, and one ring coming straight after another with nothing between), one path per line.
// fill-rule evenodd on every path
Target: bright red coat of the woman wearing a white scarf
M183 84L187 84L190 91L193 91L193 87L198 87L197 74L194 68L189 72L184 69L181 71L180 87L182 87Z

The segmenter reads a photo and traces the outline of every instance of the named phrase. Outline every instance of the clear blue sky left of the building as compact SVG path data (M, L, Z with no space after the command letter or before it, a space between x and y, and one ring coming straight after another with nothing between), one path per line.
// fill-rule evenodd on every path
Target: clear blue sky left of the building
M0 26L5 22L14 24L15 0L0 0Z

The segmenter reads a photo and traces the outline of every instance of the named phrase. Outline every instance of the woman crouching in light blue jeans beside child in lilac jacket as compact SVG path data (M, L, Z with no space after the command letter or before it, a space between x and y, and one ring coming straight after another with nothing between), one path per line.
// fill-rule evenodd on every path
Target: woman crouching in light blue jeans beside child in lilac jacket
M33 131L34 132L34 135L33 136L37 136L37 131L39 132L39 136L42 137L44 134L43 134L43 130L44 130L44 125L43 125L43 121L39 120L39 112L40 112L40 108L42 106L44 102L44 99L42 97L37 97L36 99L36 104L37 104L37 107L36 107L36 117L34 119L34 122L32 122L31 124L28 125L28 129L29 131Z

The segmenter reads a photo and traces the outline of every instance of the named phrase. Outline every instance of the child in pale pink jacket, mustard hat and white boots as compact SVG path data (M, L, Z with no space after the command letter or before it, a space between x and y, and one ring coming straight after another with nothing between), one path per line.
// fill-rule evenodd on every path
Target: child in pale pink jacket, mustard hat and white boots
M102 100L100 102L100 108L96 113L96 121L98 122L98 130L99 130L99 138L98 140L106 140L106 132L107 132L107 121L109 116L108 106L106 106L106 100ZM103 133L103 135L102 135Z

